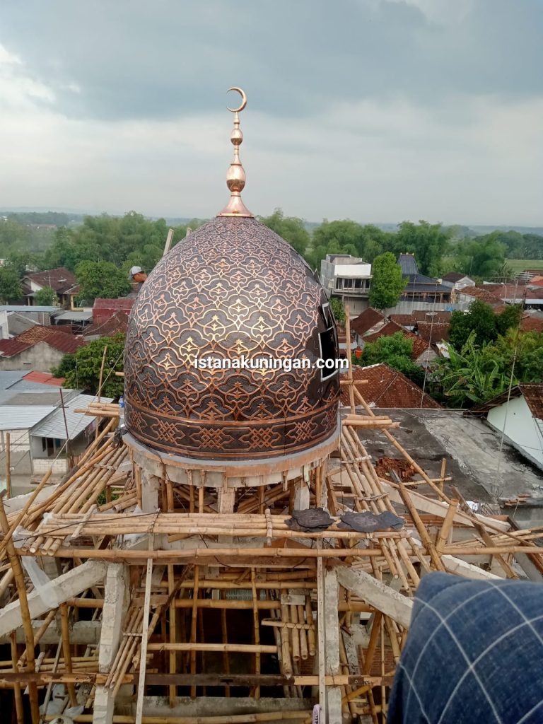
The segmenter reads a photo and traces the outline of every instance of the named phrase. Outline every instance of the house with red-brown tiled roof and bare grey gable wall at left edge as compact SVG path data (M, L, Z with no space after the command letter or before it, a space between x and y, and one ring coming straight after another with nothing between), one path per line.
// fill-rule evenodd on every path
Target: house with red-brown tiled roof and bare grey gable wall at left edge
M73 354L85 344L69 332L36 324L12 340L0 340L0 370L49 372L65 354Z

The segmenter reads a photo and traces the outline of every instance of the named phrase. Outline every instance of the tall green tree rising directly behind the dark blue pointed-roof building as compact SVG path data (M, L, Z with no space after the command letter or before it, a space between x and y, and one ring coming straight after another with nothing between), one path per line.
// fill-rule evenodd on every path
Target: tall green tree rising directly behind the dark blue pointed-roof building
M422 219L418 224L402 222L395 237L397 252L413 253L421 274L430 276L441 273L442 257L447 247L447 233L442 224L429 224Z

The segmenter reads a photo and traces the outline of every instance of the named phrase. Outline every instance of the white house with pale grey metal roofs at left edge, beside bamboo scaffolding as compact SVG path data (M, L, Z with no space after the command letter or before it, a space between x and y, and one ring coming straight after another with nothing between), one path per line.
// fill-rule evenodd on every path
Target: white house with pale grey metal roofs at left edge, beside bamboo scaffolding
M61 390L61 380L25 370L0 371L0 458L9 453L16 476L41 478L49 468L63 476L85 451L97 419L76 413L94 400ZM43 382L40 380L43 379ZM112 398L102 400L111 402ZM67 440L69 441L67 444Z

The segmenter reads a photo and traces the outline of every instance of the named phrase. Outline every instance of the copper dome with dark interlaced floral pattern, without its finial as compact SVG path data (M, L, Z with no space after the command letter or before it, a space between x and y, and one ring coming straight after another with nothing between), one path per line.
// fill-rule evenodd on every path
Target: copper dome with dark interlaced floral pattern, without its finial
M337 357L324 290L256 219L217 216L149 274L128 324L127 429L155 450L208 460L285 455L334 432L337 372L196 369L195 355Z

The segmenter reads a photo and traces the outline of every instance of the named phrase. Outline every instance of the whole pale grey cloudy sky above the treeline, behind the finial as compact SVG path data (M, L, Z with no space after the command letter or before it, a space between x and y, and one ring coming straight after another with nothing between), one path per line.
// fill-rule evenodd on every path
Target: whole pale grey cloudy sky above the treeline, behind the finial
M543 225L542 0L2 0L0 208Z

